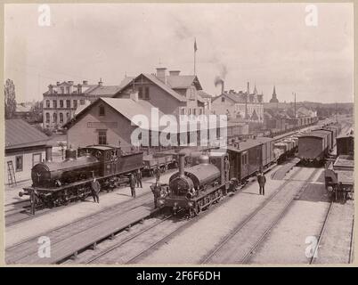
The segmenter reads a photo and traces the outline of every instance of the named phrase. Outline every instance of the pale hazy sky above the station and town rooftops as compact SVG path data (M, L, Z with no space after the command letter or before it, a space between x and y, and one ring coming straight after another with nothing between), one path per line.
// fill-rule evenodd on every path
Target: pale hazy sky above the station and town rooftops
M118 85L156 68L196 73L208 94L256 85L264 102L353 102L353 4L5 4L4 79L17 102L57 81Z

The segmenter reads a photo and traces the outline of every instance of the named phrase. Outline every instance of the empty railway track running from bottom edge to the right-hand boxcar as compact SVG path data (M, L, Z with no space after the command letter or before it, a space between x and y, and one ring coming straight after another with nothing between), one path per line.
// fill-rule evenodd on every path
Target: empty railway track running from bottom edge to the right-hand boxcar
M291 178L295 178L302 169L299 168ZM262 244L267 234L281 220L281 217L284 216L297 195L305 190L305 187L310 183L317 171L318 168L314 169L307 181L297 187L294 193L283 190L288 190L289 186L294 187L293 183L298 182L287 180L281 184L269 199L266 199L245 221L227 235L216 248L209 252L207 256L204 256L200 263L248 264L256 248ZM238 244L240 247L238 247Z

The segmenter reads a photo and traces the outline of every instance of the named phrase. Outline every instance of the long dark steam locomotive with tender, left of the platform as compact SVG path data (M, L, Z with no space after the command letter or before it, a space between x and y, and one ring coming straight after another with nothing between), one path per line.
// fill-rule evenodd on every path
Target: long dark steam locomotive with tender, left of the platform
M45 161L32 167L32 185L19 195L29 195L32 207L60 206L85 199L91 193L94 178L102 189L113 189L141 168L142 152L123 153L110 145L69 149L64 161Z

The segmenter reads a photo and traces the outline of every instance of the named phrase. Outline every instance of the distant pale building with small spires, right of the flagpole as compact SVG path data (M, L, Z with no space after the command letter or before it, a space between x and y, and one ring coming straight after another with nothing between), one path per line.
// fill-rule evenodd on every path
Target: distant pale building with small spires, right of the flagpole
M256 85L254 92L224 91L213 99L212 110L217 114L227 115L228 119L242 118L247 122L264 123L264 94L258 94Z

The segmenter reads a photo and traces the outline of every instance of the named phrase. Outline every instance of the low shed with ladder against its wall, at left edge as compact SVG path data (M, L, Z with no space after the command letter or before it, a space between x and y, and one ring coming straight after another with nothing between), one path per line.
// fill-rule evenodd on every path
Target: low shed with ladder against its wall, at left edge
M9 167L12 166L16 182L31 178L31 168L46 158L46 149L52 150L47 145L49 137L37 130L35 126L29 125L22 119L5 120L5 183L9 183Z

